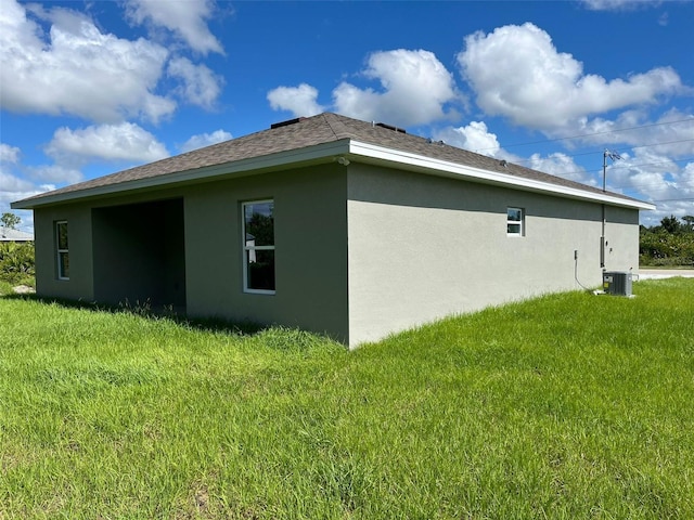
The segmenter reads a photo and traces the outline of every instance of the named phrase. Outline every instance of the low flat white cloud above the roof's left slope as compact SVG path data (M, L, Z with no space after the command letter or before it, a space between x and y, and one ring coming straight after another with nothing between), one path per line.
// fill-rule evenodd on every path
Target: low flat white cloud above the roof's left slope
M46 153L63 166L81 166L94 159L151 162L169 155L154 135L131 122L60 128Z

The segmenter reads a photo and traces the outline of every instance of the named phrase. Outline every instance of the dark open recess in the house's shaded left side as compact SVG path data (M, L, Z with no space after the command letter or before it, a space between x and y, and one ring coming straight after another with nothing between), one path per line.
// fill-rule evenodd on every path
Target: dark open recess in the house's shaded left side
M185 307L183 199L94 208L94 299Z

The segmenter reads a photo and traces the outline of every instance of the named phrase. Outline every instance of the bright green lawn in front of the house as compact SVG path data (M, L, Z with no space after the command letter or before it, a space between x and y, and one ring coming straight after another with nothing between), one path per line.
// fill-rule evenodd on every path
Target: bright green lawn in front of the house
M347 352L0 298L0 519L694 518L694 280Z

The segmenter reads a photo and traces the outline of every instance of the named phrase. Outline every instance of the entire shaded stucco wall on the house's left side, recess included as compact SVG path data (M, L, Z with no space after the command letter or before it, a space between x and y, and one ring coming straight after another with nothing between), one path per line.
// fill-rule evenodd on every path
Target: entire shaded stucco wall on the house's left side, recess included
M172 281L184 284L191 316L280 323L346 341L346 169L335 164L38 209L37 291L111 303L169 298L176 304L179 294L160 287ZM170 198L182 200L180 218L174 213L175 225L184 227L184 245L175 234L174 251L156 214ZM274 200L274 295L243 290L241 204L265 198ZM57 220L68 221L68 281L56 275Z

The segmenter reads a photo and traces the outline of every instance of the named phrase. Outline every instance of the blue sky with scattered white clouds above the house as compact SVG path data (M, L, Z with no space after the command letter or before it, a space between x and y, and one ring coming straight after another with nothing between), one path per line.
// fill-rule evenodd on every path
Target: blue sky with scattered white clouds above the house
M692 0L0 0L0 213L334 112L594 186L605 161L655 225L694 214L692 27Z

